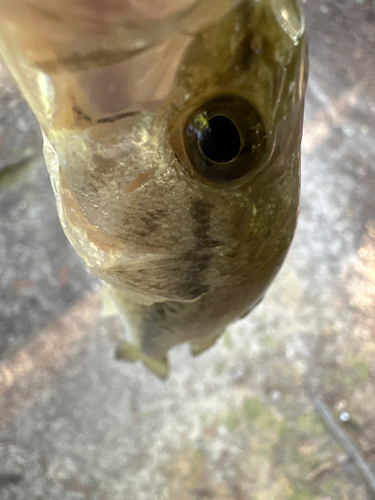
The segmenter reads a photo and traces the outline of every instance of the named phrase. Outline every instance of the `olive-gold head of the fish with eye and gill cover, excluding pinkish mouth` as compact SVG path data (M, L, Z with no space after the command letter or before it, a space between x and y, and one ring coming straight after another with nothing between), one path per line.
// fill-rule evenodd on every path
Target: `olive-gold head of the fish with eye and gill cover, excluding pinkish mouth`
M243 2L168 40L161 90L56 134L62 220L93 272L145 302L234 294L236 314L264 293L297 219L303 34L294 1Z

